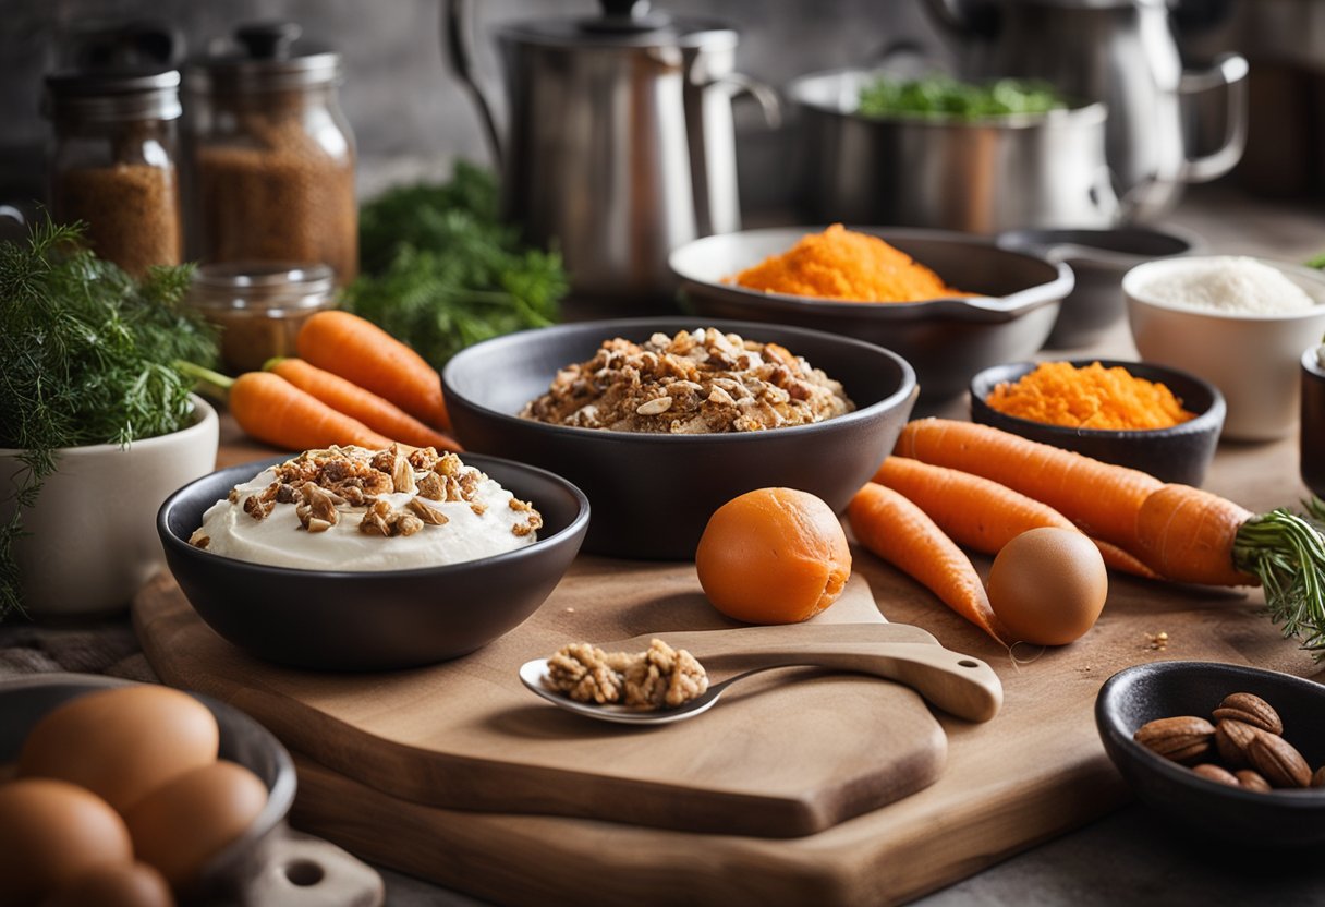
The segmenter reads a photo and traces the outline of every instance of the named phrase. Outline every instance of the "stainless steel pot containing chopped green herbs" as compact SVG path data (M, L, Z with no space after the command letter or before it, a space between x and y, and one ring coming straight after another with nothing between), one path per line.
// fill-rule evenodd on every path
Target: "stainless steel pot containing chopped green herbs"
M1120 216L1102 105L974 122L860 117L860 89L878 74L841 69L786 89L803 129L811 220L995 233Z

